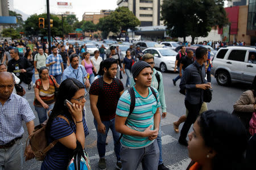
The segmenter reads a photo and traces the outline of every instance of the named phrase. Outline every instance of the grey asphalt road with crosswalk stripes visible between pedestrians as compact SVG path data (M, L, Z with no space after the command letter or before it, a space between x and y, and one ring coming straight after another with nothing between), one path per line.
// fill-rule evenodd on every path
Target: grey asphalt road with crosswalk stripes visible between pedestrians
M191 161L188 158L187 147L179 145L177 139L179 139L179 134L176 134L173 130L172 123L176 121L181 115L185 113L184 105L184 95L179 93L179 81L177 86L172 84L172 79L175 78L177 73L163 73L164 82L164 93L166 96L167 104L167 117L161 121L162 128L162 150L163 150L163 160L164 164L170 169L186 169L187 165ZM122 82L125 84L126 76L123 76ZM250 86L249 84L243 83L233 83L230 87L219 86L215 78L212 78L213 87L213 98L210 103L208 103L208 109L221 109L224 111L232 112L233 104L237 101L243 91L246 91ZM27 87L26 87L27 90ZM35 112L33 101L34 101L34 90L28 91L26 94L28 103L35 113L36 119L35 125L39 124L37 113ZM90 164L92 169L98 169L98 152L96 146L97 133L95 126L93 124L93 115L90 111L90 101L86 101L86 122L90 131L90 134L85 139L85 149L89 154ZM23 135L23 148L26 145L27 131L26 126L23 123L25 133ZM182 124L180 126L180 129ZM107 138L108 145L106 146L106 162L107 169L115 169L116 158L113 152L113 138L112 133L109 131ZM23 162L23 169L40 169L42 162L36 161L35 159ZM139 169L142 169L141 166Z

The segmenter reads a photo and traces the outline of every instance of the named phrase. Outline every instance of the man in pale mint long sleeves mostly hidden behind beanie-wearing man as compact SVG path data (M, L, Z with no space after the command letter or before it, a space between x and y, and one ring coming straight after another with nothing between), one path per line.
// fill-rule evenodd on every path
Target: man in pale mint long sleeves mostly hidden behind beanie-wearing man
M142 60L147 62L153 71L152 73L152 81L151 81L151 86L156 88L159 92L159 100L162 108L162 118L166 117L166 99L164 96L164 86L163 86L163 76L160 71L157 71L154 69L155 66L155 61L154 61L154 56L150 53L146 53L143 55ZM134 79L131 80L131 87L135 86ZM163 164L163 159L162 159L162 139L161 139L161 127L159 125L159 133L158 137L156 138L156 141L158 142L158 147L159 147L159 162L158 162L158 169L160 170L167 170L168 168L164 166Z

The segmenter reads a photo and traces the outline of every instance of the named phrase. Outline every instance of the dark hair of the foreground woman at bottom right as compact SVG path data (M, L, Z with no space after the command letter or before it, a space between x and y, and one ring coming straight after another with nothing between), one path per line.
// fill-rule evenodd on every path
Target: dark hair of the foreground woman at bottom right
M225 111L206 111L199 121L205 146L216 151L213 170L245 169L243 154L247 147L245 126L239 118Z

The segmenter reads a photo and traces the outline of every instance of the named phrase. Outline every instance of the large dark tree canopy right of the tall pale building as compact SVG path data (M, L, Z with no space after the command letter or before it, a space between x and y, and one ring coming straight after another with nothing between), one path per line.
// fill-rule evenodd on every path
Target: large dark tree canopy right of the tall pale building
M228 23L223 0L163 0L162 20L171 36L208 36L214 26Z

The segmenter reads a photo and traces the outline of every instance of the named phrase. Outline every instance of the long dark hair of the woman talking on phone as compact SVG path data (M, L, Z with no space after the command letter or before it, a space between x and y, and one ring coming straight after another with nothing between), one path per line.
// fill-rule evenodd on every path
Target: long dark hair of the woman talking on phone
M69 121L73 121L71 113L69 113L68 108L64 106L64 101L66 99L70 101L71 98L75 96L76 92L81 88L84 88L84 84L82 84L81 82L79 82L79 80L76 80L74 78L65 79L60 84L59 92L57 94L56 101L52 109L52 113L49 116L46 125L46 135L49 135L51 131L52 121L60 114L67 116Z

